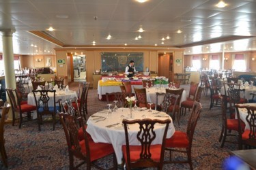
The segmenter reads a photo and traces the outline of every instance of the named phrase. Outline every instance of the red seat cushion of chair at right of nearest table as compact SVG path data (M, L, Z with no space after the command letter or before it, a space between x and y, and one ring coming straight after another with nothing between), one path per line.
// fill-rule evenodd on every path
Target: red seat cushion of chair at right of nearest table
M171 138L165 140L166 148L188 148L188 146L188 136L182 131L175 131Z

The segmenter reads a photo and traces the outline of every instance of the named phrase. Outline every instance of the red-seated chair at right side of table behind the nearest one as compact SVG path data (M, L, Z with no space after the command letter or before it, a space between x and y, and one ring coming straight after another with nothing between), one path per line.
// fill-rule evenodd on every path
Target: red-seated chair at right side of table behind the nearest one
M195 94L194 100L188 99L188 100L182 101L182 103L180 103L180 108L182 109L182 111L181 111L182 114L186 114L187 108L188 108L188 110L192 109L194 101L200 102L202 92L203 92L203 87L199 86L197 88L197 92Z

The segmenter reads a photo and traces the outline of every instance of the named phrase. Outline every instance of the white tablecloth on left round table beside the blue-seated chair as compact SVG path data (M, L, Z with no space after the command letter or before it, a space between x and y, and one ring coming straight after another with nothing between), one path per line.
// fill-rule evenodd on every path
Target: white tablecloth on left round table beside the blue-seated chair
M53 93L48 93L49 97L50 97L50 101L49 101L49 105L50 107L54 106L53 104ZM37 99L40 97L40 94L38 93L38 95L36 96ZM55 93L55 102L58 101L59 99L61 99L61 102L66 101L67 99L73 99L74 97L77 97L76 92L70 90L69 92L65 92L65 91L59 91ZM27 95L27 103L29 105L35 105L35 97L33 97L33 92L30 92L29 95Z

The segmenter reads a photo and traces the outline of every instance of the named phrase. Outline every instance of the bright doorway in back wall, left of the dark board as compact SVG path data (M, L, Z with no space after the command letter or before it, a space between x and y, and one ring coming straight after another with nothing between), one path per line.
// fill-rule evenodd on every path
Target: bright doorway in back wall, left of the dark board
M86 82L86 57L85 55L73 56L74 82Z

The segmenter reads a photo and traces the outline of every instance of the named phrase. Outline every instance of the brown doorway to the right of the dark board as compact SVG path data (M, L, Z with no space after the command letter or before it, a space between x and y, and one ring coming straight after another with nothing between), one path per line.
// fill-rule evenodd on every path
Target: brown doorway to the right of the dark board
M173 53L158 53L158 76L173 82Z

